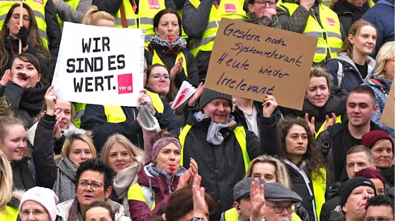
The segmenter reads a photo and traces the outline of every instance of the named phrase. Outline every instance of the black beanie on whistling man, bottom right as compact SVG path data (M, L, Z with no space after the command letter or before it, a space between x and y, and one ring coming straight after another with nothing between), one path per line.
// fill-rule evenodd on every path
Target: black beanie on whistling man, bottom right
M374 184L371 180L364 177L354 177L344 182L339 188L341 206L346 204L351 192L358 186L370 186L374 190L374 195L376 195L376 188L374 187Z

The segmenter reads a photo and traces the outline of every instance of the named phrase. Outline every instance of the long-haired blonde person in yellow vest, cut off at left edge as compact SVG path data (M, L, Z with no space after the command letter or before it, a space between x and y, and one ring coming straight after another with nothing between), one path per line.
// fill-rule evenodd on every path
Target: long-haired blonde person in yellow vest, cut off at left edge
M0 220L16 220L18 208L9 206L12 198L12 169L6 155L0 151Z

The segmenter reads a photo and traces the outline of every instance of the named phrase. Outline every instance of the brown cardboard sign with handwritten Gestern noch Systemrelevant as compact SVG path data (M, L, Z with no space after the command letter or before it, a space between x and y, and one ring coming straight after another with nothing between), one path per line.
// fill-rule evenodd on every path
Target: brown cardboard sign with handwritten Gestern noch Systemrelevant
M302 110L317 39L222 18L205 87Z

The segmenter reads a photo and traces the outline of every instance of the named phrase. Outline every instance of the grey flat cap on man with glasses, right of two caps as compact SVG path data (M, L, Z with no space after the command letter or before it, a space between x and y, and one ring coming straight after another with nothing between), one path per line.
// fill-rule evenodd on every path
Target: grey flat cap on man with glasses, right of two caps
M297 193L278 183L265 184L265 200L273 202L292 201L293 203L302 202L302 197Z

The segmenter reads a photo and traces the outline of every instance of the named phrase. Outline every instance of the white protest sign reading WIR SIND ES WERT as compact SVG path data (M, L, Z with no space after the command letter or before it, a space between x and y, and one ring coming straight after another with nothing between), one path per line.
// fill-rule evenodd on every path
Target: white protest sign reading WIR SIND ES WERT
M52 84L60 100L137 106L145 30L65 22Z

